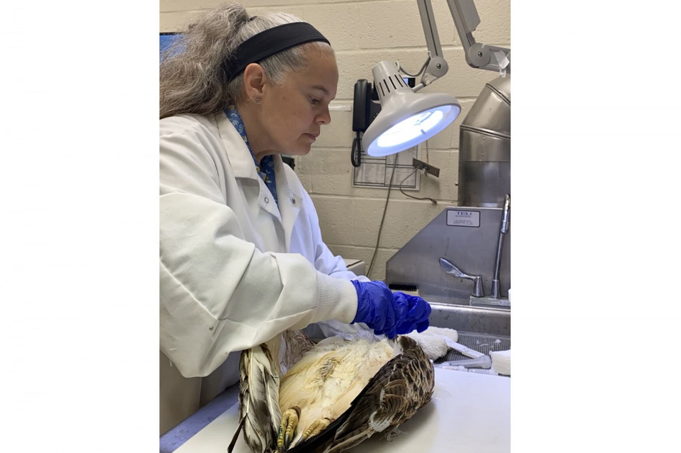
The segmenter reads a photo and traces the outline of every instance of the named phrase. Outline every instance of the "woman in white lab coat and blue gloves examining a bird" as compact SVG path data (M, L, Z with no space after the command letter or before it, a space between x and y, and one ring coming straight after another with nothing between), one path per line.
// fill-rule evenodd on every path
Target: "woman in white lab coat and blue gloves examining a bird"
M310 152L331 121L338 68L328 40L295 16L249 17L227 4L197 18L171 52L160 77L160 344L181 375L218 369L217 394L238 381L240 350L313 322L363 322L388 337L424 331L428 303L333 256L281 161Z

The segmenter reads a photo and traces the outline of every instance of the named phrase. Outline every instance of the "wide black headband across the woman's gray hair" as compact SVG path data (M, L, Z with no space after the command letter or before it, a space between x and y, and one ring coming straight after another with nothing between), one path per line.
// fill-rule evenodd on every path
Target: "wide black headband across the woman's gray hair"
M251 63L257 63L282 50L312 41L331 44L315 27L306 22L278 25L242 42L236 48L234 57L223 63L223 69L227 72L227 79L232 81Z

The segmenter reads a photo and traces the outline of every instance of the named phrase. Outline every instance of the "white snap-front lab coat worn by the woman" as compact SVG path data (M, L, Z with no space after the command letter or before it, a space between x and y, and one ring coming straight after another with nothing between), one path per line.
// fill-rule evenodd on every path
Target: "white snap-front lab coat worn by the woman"
M238 352L285 329L349 323L357 295L281 156L278 208L224 114L164 118L159 141L161 418L164 404L178 413L167 431L198 408L197 388L206 403L238 381Z

